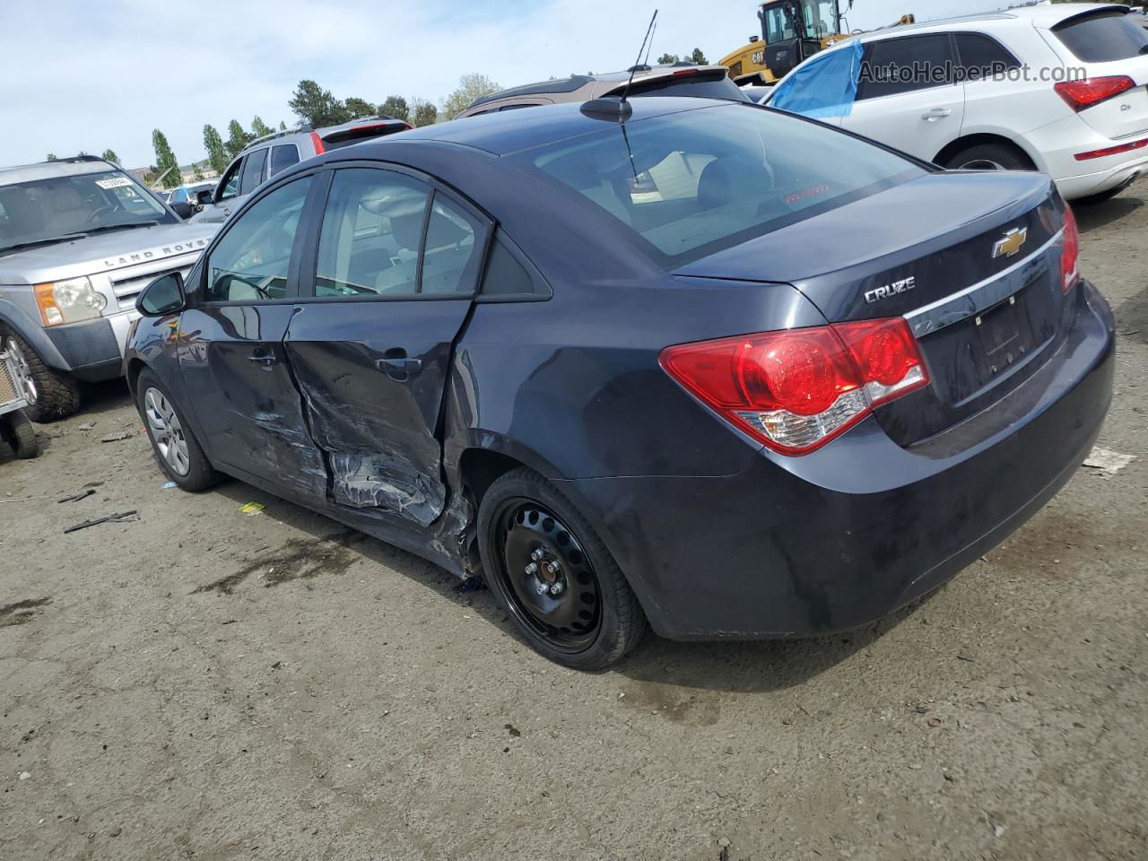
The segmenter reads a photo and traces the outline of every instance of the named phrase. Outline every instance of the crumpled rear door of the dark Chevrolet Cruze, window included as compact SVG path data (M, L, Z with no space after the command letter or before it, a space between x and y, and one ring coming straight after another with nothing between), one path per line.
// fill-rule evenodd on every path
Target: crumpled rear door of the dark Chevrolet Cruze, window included
M327 176L286 352L332 502L417 529L447 504L443 400L490 226L397 169Z

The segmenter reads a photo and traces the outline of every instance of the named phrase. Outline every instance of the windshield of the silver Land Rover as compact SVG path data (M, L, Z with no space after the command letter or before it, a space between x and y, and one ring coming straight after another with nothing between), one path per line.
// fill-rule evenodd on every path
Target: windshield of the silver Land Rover
M0 186L0 253L95 230L173 224L149 192L117 170Z

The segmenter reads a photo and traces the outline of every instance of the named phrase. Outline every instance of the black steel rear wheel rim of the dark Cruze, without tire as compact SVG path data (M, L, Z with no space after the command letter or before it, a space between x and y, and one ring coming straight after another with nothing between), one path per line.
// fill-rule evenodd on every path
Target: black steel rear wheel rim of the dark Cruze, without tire
M581 652L602 626L602 590L590 558L544 505L505 502L494 519L502 584L518 620L564 652Z

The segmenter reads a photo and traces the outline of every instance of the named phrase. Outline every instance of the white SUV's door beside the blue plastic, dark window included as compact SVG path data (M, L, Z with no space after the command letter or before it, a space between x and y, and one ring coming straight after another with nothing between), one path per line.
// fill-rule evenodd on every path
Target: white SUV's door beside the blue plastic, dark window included
M953 83L948 33L866 45L853 110L841 127L932 161L961 133L964 86Z

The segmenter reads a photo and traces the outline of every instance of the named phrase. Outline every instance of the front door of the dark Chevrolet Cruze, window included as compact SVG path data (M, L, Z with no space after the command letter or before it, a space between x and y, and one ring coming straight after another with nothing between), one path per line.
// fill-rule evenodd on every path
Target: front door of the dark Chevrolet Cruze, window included
M284 356L295 311L300 222L313 174L259 196L204 254L180 319L180 373L208 455L305 498L323 499L326 470L307 433Z

